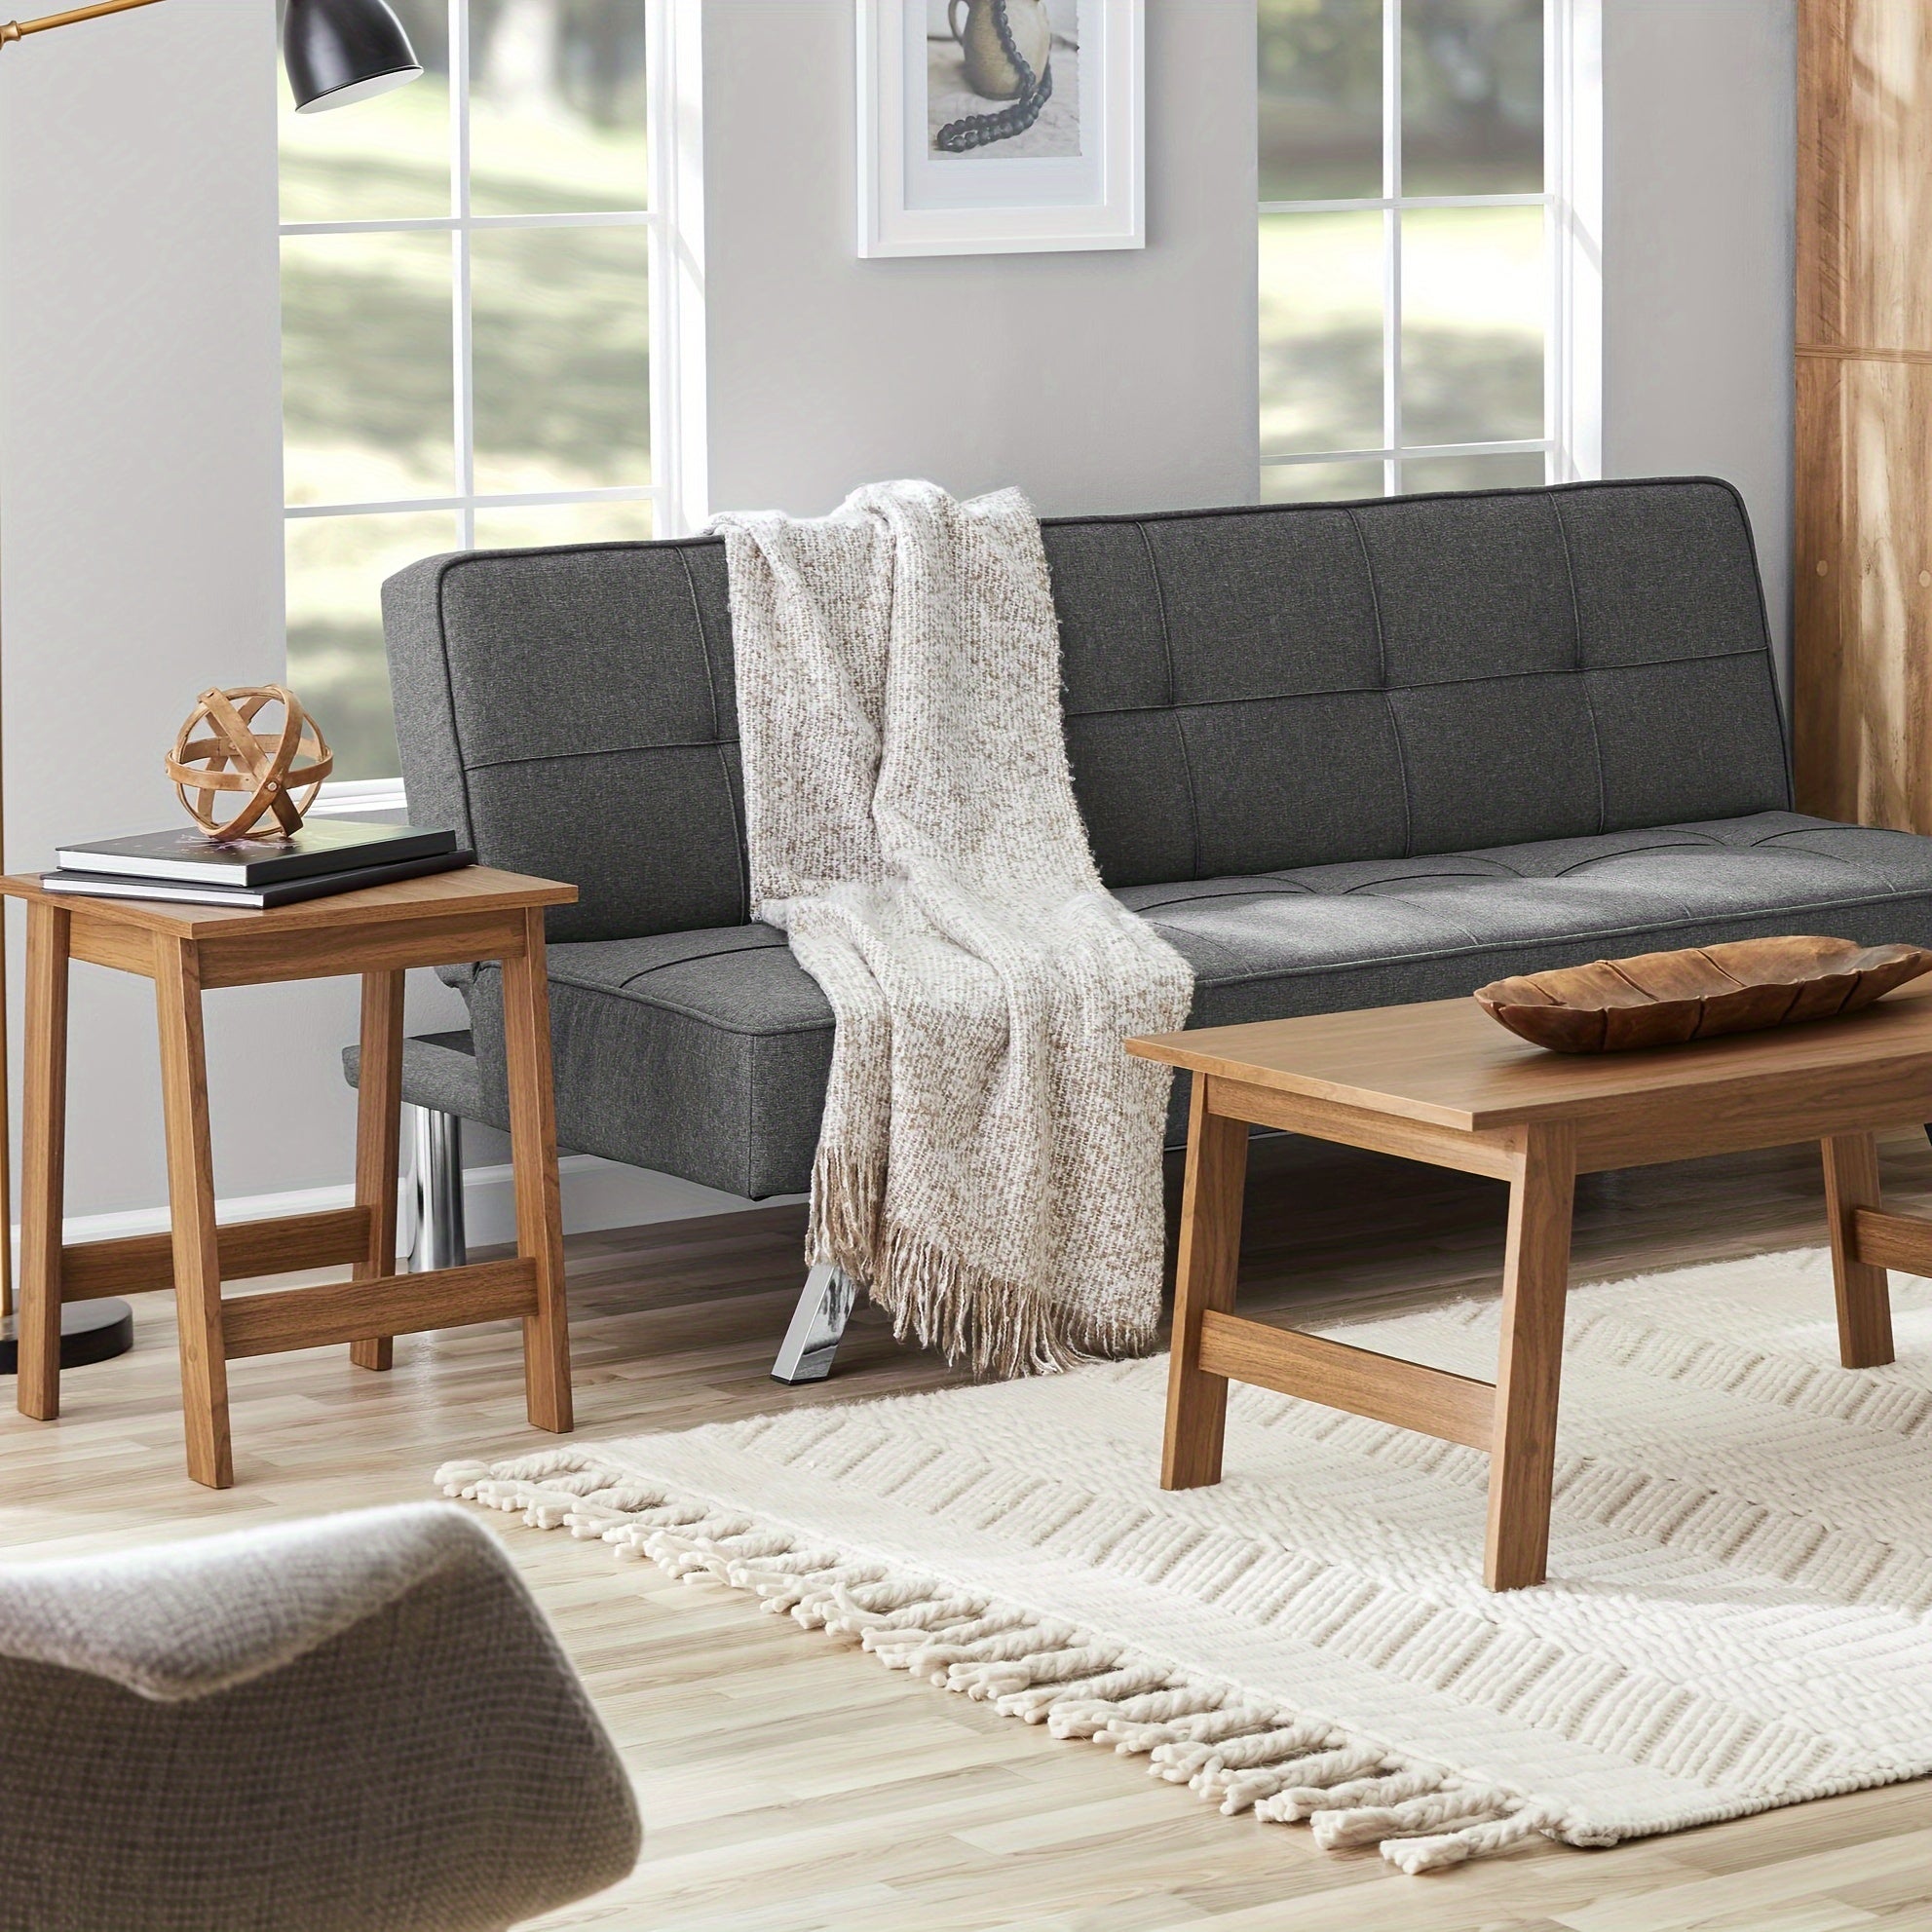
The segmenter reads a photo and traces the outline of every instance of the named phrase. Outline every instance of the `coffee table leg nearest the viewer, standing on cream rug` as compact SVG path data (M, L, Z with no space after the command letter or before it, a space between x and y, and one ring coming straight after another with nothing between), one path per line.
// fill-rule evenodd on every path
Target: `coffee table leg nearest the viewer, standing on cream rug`
M1549 1565L1549 1484L1563 1379L1577 1130L1524 1128L1522 1167L1509 1184L1503 1258L1503 1347L1490 1443L1490 1548L1484 1582L1522 1590Z

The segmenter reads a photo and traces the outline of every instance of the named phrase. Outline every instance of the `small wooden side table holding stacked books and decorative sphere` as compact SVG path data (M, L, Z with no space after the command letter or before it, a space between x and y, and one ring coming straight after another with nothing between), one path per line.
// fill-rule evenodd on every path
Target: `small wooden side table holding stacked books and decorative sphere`
M562 1208L551 1101L543 908L576 887L487 866L406 879L272 912L73 898L33 877L0 879L27 904L27 1074L21 1161L19 1408L60 1414L60 1304L174 1289L182 1335L187 1474L234 1482L228 1362L348 1343L361 1368L390 1366L394 1335L524 1320L529 1420L570 1428ZM68 960L155 981L168 1132L168 1235L62 1242L68 1115ZM516 1256L398 1275L396 1159L402 1122L402 976L410 966L502 960ZM363 1072L355 1206L214 1225L201 995L222 985L361 976ZM222 1296L224 1279L354 1264L354 1279Z

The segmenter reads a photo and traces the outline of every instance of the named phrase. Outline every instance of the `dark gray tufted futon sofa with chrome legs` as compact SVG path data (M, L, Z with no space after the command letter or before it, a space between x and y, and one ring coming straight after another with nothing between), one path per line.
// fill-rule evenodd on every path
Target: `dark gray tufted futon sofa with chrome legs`
M1045 547L1094 852L1192 964L1194 1024L1756 933L1932 943L1932 838L1791 810L1725 483L1055 518ZM384 622L412 819L582 887L549 925L560 1142L804 1190L833 1018L750 920L723 545L435 556ZM469 1030L404 1055L433 1204L450 1121L506 1119L498 972L452 978ZM775 1374L825 1374L846 1306L815 1271Z

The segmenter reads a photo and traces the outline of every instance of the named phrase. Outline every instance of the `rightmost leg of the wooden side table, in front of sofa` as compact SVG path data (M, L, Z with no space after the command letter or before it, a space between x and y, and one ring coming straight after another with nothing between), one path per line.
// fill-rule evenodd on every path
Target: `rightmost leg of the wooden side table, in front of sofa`
M510 1076L516 1252L537 1264L537 1312L524 1320L524 1393L531 1424L562 1434L572 1426L570 1318L564 1308L564 1202L556 1184L551 983L541 910L524 914L524 949L502 962L502 1036Z

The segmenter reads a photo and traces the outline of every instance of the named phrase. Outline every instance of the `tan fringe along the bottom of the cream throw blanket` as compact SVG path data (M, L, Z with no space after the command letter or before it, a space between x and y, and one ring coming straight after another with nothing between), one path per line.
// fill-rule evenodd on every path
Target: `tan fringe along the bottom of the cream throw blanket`
M974 1376L1057 1376L1082 1362L1146 1354L1157 1304L1144 1321L1082 1314L976 1269L885 1211L885 1173L821 1146L811 1163L808 1262L831 1262L891 1318L902 1343L937 1349Z

